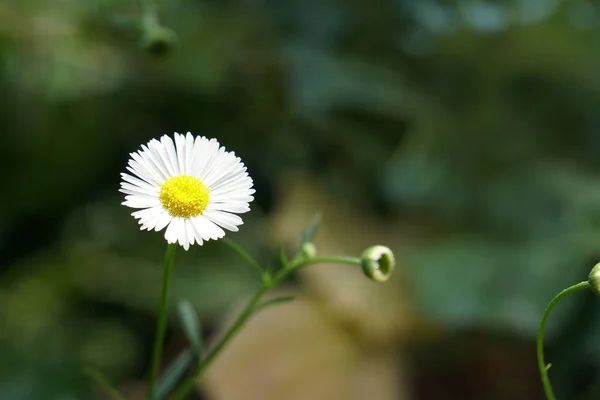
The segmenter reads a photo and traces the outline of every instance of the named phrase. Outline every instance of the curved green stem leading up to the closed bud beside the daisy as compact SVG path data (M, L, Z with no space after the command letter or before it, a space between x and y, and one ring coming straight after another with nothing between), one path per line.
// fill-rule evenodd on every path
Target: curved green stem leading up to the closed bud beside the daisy
M291 273L297 271L300 268L306 267L312 264L318 263L342 263L342 264L356 264L360 265L360 258L356 257L314 257L296 259L292 264L283 270L281 270L271 281L270 284L265 284L258 289L258 291L250 298L240 315L234 321L233 325L225 332L217 344L209 351L206 357L202 360L193 374L177 389L177 391L171 396L171 400L183 400L187 394L194 389L198 378L202 373L213 363L219 353L225 348L225 346L233 339L233 337L240 331L240 329L248 322L252 314L256 311L256 307L259 305L260 300L265 294L271 290L271 288L277 286L283 280L285 280Z

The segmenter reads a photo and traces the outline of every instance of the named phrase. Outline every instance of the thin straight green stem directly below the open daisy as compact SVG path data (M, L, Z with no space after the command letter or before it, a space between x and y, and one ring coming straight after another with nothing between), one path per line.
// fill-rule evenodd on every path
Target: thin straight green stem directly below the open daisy
M162 278L162 292L160 297L160 309L156 321L156 333L154 338L154 350L152 353L152 369L150 370L150 389L148 399L154 400L156 396L156 381L160 370L163 345L165 341L165 331L167 327L167 313L169 305L169 282L171 280L171 270L173 269L173 260L175 258L175 249L177 244L172 243L167 246L165 252L165 267Z

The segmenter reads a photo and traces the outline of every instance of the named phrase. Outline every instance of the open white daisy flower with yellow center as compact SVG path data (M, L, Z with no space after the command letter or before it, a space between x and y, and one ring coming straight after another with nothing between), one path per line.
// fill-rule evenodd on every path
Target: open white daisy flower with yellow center
M165 231L168 243L190 245L236 232L243 223L236 215L250 211L252 178L233 152L216 139L175 133L164 135L131 153L122 173L120 192L141 229Z

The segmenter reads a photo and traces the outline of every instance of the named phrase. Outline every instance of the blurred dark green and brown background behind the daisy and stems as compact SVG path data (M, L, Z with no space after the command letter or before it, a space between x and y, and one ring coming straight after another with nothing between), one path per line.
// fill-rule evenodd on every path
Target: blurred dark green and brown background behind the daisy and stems
M262 263L312 216L321 254L391 247L386 284L302 271L191 399L535 400L535 334L600 259L600 4L590 0L0 2L0 399L142 399L165 243L120 205L151 138L218 138L256 200ZM210 343L257 287L222 243L177 254L172 304ZM174 316L175 313L172 313ZM166 361L185 346L175 317ZM600 301L546 338L560 399L600 397Z

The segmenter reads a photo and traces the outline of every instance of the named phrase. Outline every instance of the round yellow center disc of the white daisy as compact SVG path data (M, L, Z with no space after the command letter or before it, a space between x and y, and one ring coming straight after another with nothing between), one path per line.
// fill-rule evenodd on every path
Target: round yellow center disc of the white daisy
M202 214L208 205L210 191L198 178L179 175L160 187L160 202L173 217L191 218Z

